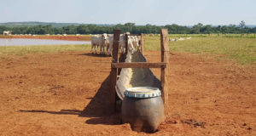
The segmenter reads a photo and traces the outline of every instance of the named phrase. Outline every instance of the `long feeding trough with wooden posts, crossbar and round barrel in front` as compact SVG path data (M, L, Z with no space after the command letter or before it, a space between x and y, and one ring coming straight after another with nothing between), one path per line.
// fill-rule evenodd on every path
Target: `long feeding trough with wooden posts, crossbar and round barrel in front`
M110 99L112 111L116 111L116 101L123 100L122 122L129 122L136 131L152 133L165 119L168 90L166 84L166 64L168 61L168 32L161 31L161 62L148 63L143 55L143 34L140 48L133 54L125 49L119 58L120 30L113 31L113 62L111 64ZM134 35L133 35L134 36ZM127 41L129 35L125 34ZM126 48L128 42L126 42ZM149 68L160 68L160 80ZM163 103L164 102L164 103Z

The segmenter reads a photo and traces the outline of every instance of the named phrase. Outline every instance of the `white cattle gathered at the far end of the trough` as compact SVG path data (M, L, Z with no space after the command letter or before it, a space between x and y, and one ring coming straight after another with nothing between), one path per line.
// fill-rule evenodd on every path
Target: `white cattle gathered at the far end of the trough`
M125 34L128 34L128 51L131 54L140 48L140 37L139 36L129 36L129 32L121 34L119 37L119 52L125 53ZM97 54L97 48L100 49L100 54L110 54L112 55L113 50L113 34L103 33L102 35L91 36L91 53Z

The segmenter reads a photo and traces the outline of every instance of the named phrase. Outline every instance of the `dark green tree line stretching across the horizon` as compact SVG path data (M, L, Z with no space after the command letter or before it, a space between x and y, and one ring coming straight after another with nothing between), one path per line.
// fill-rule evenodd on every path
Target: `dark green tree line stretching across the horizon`
M178 26L176 24L166 26L136 26L135 23L118 24L115 26L96 26L96 25L79 25L63 26L61 28L46 26L19 26L7 27L0 26L0 31L12 31L13 34L101 34L113 33L113 29L121 29L122 32L130 31L131 33L160 33L161 28L168 29L170 34L211 34L211 33L256 33L256 27L247 27L244 21L239 26L211 26L199 23L195 26Z

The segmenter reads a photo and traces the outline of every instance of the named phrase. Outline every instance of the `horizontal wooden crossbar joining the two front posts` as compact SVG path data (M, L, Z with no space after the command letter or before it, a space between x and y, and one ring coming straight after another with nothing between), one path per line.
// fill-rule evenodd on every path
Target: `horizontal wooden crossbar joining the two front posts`
M112 68L166 68L166 63L148 63L148 62L131 62L131 63L112 63Z

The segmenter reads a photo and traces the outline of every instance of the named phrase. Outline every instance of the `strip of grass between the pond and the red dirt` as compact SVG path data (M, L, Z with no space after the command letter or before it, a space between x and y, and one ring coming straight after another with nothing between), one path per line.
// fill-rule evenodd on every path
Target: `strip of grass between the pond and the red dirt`
M10 55L24 55L24 54L37 54L37 53L53 53L63 51L79 51L90 50L90 44L82 45L37 45L37 46L4 46L0 47L0 56L2 59L4 54Z

